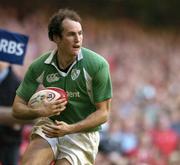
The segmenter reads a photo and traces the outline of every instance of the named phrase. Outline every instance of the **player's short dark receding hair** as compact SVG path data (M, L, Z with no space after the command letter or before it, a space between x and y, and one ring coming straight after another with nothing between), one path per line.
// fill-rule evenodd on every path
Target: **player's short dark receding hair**
M65 18L69 18L73 21L81 23L80 16L74 10L59 9L58 12L53 14L53 16L49 20L48 36L51 41L54 41L53 36L55 35L59 35L60 37L62 37L62 22Z

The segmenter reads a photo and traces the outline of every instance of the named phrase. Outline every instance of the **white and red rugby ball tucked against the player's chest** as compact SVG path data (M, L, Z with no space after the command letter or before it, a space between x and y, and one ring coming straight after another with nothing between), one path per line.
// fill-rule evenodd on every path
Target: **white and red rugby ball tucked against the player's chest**
M48 102L51 102L61 98L68 100L68 96L65 90L57 87L48 87L34 93L28 101L28 106L37 108L42 104L44 99L46 99Z

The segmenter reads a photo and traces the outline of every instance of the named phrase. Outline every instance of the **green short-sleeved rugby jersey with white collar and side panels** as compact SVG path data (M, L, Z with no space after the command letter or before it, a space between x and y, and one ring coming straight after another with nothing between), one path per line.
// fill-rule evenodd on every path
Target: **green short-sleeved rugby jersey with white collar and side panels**
M81 48L76 61L66 73L58 69L56 50L43 54L30 65L16 93L28 101L40 84L59 87L68 93L66 109L51 119L69 124L85 119L96 110L95 103L112 97L107 61L86 48Z

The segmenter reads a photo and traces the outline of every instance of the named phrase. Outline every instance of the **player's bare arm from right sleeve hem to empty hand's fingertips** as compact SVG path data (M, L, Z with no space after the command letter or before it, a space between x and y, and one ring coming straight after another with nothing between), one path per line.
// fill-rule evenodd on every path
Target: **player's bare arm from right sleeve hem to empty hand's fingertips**
M66 134L85 132L105 123L109 118L111 99L96 103L97 110L86 119L75 124L67 124L62 121L56 121L55 125L46 124L43 126L43 132L48 137L64 136Z

